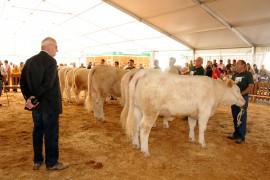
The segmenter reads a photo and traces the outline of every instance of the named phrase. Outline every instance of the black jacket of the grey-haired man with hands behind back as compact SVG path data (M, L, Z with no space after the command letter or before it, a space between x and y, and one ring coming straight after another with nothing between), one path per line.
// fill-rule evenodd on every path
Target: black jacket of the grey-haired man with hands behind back
M25 63L20 80L24 99L35 96L40 102L36 110L46 114L62 113L62 99L56 60L40 51Z

